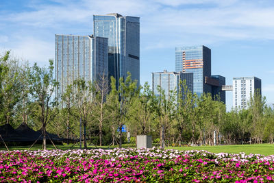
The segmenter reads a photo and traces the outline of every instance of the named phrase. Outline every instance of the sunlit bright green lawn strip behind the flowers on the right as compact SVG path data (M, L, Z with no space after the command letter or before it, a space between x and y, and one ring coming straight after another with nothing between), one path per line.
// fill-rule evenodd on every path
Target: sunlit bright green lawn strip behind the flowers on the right
M263 154L269 156L274 154L274 145L256 144L256 145L218 145L218 146L193 146L193 147L168 147L168 149L184 150L206 150L213 153L233 153L245 152L245 154Z

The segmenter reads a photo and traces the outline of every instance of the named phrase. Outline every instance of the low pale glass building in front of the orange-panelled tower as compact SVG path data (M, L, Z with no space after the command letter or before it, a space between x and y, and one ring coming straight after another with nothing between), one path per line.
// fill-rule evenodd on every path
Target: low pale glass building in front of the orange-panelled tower
M152 90L153 93L159 95L158 86L164 90L164 94L168 98L171 95L171 91L176 89L177 94L179 94L180 80L186 80L186 86L191 93L193 93L193 73L182 73L182 72L155 72L152 73ZM184 89L183 89L184 90ZM185 96L181 96L185 97Z

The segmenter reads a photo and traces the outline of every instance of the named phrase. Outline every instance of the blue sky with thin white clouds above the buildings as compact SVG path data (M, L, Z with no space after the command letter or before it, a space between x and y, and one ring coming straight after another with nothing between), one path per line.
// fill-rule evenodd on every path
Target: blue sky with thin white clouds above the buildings
M226 84L259 77L266 103L274 103L272 0L0 0L0 53L47 66L55 34L90 35L93 14L111 12L140 17L140 84L151 84L151 72L175 71L175 47L205 45L212 75Z

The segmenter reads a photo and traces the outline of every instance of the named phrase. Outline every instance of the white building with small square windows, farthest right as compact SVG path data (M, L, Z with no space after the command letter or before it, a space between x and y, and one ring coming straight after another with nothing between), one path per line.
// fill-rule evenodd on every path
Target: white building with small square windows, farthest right
M250 97L256 90L261 93L262 82L258 77L233 77L233 107L247 109Z

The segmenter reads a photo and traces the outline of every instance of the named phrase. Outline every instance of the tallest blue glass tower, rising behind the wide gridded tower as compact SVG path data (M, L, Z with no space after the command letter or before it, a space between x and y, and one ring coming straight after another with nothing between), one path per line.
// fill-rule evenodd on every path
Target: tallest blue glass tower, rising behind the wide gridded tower
M95 36L108 38L108 66L110 76L119 78L132 74L140 82L140 23L139 17L105 14L93 16Z

